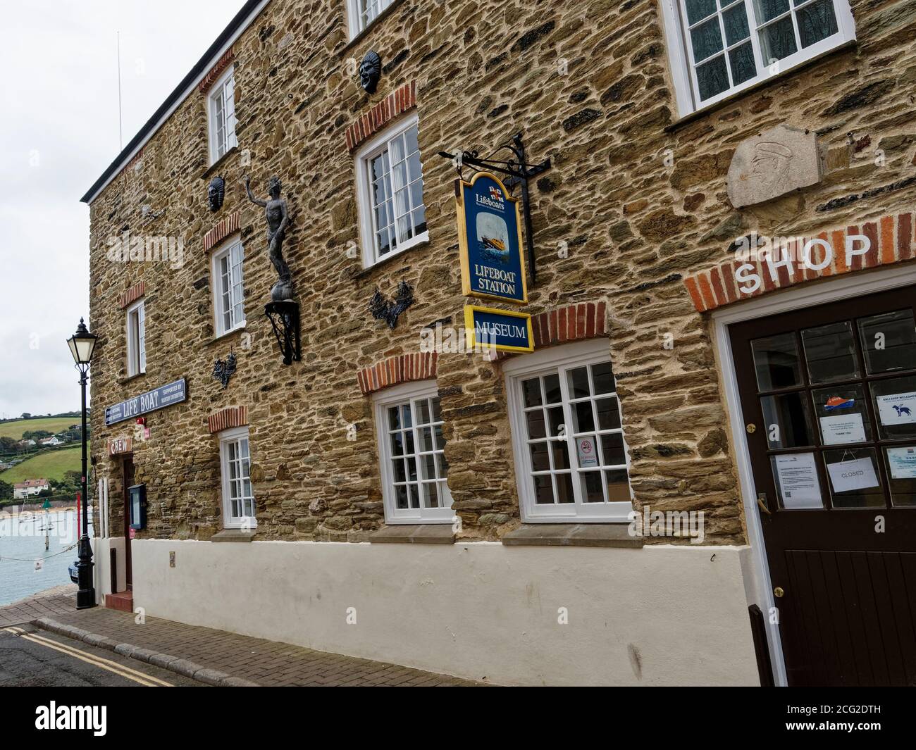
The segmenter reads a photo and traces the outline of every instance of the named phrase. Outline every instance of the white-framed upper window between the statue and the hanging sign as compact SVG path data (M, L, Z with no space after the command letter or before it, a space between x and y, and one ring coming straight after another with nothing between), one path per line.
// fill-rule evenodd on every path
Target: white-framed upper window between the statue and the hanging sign
M356 190L365 266L429 239L416 115L360 149Z

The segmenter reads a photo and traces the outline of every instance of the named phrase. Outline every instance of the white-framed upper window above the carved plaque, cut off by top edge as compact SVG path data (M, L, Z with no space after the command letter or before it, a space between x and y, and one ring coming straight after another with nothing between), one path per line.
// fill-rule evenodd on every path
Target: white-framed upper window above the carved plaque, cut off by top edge
M848 0L660 0L681 114L856 38Z

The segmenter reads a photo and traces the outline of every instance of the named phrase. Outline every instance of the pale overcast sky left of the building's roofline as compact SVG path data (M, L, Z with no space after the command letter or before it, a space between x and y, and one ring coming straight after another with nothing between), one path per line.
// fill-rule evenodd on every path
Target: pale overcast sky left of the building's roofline
M66 339L89 317L80 198L243 0L5 3L0 35L0 418L80 408Z

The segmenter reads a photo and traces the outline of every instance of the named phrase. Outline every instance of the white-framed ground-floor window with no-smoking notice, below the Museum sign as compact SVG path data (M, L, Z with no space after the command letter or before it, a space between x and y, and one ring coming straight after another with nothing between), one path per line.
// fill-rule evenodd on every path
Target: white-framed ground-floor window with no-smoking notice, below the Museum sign
M626 521L627 443L607 340L504 365L522 519Z

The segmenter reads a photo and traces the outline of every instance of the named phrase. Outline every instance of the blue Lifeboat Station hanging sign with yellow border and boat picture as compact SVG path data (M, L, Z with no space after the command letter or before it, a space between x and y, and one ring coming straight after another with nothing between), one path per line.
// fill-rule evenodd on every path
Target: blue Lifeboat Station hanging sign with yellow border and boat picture
M490 172L455 180L462 293L470 297L528 302L521 252L518 199Z

